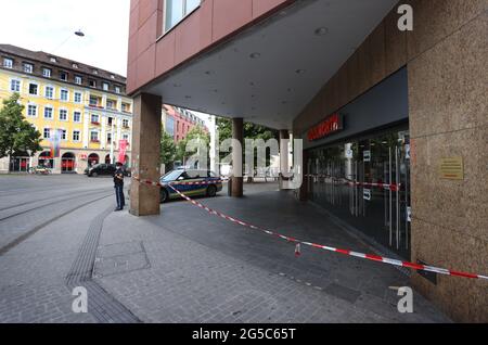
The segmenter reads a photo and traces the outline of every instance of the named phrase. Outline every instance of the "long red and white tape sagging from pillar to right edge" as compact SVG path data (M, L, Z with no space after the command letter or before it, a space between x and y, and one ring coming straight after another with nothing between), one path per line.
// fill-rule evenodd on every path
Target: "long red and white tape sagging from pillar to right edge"
M136 180L142 181L142 180L139 180L137 178L136 178ZM160 184L160 183L157 183L157 184ZM157 186L157 184L153 184L153 186ZM332 247L332 246L328 246L328 245L322 245L322 244L317 244L317 243L301 241L301 240L298 240L298 239L295 239L295 238L292 238L292 237L286 237L284 234L281 234L281 233L278 233L278 232L274 232L274 231L271 231L271 230L268 230L268 229L264 229L264 228L254 226L254 225L248 223L246 221L243 221L241 219L237 219L237 218L224 215L224 214L222 214L222 213L220 213L218 210L211 209L210 207L207 207L207 206L198 203L197 201L192 200L191 197L184 195L183 193L181 193L179 190L177 190L171 184L168 184L168 187L171 188L175 192L177 192L181 197L183 197L184 200L187 200L191 204L193 204L193 205L195 205L195 206L206 210L210 215L214 215L214 216L223 218L226 220L229 220L231 222L239 223L240 226L247 227L247 228L251 228L253 230L258 230L258 231L265 232L266 234L273 235L273 237L280 238L282 240L295 243L296 244L295 245L295 255L296 256L300 255L300 252L301 252L300 244L303 244L303 245L311 246L311 247L323 250L323 251L341 253L341 254L344 254L344 255L355 256L355 257L359 257L359 258L362 258L362 259L384 263L384 264L388 264L388 265L393 265L393 266L407 267L407 268L411 268L411 269L414 269L414 270L424 270L424 271L435 272L435 273L445 274L445 276L454 276L454 277L463 277L463 278L471 278L471 279L485 279L485 280L488 280L488 276L474 274L474 273L462 272L462 271L454 271L454 270L450 270L450 269L446 269L446 268L439 268L439 267L435 267L435 266L414 264L414 263L410 263L410 261L402 261L402 260L387 258L387 257L383 257L383 256L378 256L378 255L364 254L364 253L354 252L354 251L350 251L350 250L342 250L342 248L336 248L336 247Z

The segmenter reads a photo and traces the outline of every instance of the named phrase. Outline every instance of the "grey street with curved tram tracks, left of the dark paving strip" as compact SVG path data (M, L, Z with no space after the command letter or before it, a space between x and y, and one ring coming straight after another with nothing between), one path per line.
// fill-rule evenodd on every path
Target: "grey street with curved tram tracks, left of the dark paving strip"
M0 176L0 218L31 209L0 220L0 247L57 218L0 254L0 322L97 321L90 314L72 311L74 296L66 288L65 277L90 221L106 204L114 204L115 197L90 201L111 192L110 179ZM81 204L87 205L62 216Z

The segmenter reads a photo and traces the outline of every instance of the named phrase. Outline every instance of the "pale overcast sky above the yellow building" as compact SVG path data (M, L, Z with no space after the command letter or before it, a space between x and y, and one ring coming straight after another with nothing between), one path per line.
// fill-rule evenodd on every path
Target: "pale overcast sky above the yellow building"
M127 76L130 0L0 0L0 43ZM85 37L75 36L78 29Z

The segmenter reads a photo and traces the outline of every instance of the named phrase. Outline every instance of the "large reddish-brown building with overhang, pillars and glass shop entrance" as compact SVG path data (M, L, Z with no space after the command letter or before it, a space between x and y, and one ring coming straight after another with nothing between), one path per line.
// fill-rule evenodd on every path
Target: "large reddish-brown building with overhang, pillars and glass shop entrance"
M232 118L241 143L244 120L274 128L303 140L301 201L399 259L486 274L487 25L486 0L131 0L133 155L157 161L163 101ZM131 213L158 214L157 190L133 184ZM481 280L411 283L454 320L488 321Z

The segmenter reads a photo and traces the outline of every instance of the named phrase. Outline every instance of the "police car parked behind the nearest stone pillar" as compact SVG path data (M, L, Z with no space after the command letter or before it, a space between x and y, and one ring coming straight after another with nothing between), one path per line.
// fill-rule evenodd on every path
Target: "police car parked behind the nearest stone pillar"
M202 184L187 184L188 182L205 182ZM220 177L210 170L176 169L160 178L163 184L159 190L159 201L165 203L180 195L168 184L171 183L178 191L188 196L206 195L216 196L222 190Z

